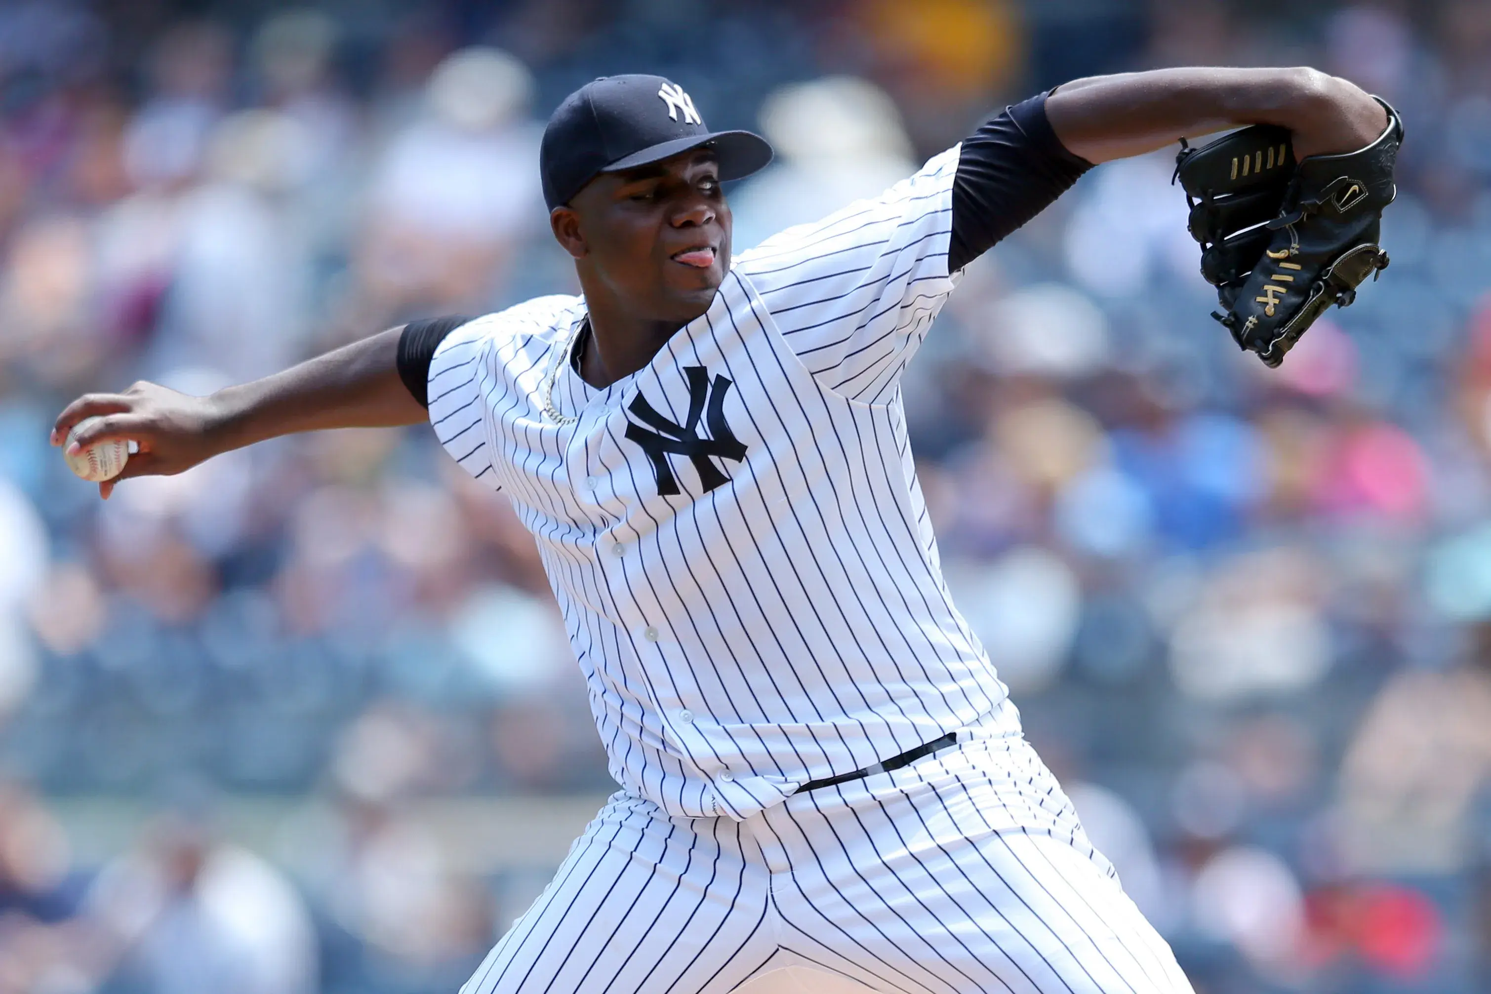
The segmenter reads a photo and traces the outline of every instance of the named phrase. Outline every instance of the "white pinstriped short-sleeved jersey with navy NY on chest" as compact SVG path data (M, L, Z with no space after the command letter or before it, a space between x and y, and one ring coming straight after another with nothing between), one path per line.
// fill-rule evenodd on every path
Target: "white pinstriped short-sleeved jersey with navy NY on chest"
M669 815L747 818L1005 697L942 580L899 389L956 283L957 161L744 253L608 387L570 362L576 297L434 356L441 444L535 535L611 775Z

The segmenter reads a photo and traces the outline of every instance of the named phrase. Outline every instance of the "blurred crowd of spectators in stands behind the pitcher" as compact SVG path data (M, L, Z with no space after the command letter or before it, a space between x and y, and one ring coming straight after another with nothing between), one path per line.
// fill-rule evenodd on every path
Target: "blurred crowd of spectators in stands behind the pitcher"
M559 98L778 149L737 247L1069 77L1314 64L1391 268L1264 370L1172 152L969 267L907 376L963 611L1199 991L1491 990L1491 3L0 3L0 994L453 991L611 784L532 542L429 431L109 502L79 392L573 292Z

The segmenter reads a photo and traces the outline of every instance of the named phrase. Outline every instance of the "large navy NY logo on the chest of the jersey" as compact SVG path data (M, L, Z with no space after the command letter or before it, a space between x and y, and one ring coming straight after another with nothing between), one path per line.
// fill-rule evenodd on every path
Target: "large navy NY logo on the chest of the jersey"
M740 462L746 458L746 446L725 423L725 393L731 389L731 380L716 376L714 383L710 383L710 374L701 365L683 367L683 374L689 379L689 417L681 425L675 425L653 410L653 405L643 399L641 393L626 408L637 416L637 420L643 422L638 425L628 419L626 438L635 441L647 453L653 475L658 477L659 496L680 493L678 480L672 475L668 456L687 456L699 472L699 483L704 484L705 493L722 483L729 483L729 477L710 462L711 456L731 462ZM708 438L699 438L701 416L710 426ZM652 431L647 431L649 428Z

